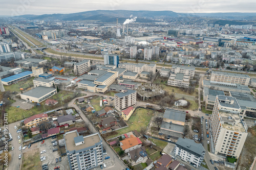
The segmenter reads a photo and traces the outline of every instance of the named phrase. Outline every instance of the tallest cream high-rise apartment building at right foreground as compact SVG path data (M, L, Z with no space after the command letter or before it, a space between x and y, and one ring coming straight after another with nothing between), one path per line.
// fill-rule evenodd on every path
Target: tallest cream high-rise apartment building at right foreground
M247 126L240 117L241 107L236 98L217 95L210 117L215 154L238 158L247 137Z

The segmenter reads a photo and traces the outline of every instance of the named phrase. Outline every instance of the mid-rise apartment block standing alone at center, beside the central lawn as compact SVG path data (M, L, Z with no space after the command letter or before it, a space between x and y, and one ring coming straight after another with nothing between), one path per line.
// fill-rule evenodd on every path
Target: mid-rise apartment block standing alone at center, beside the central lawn
M124 89L123 92L115 94L115 108L119 111L136 105L136 91Z

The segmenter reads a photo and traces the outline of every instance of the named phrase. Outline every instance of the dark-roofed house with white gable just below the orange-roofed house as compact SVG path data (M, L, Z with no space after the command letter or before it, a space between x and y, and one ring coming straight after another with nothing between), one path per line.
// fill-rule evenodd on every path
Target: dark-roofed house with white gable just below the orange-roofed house
M135 164L147 159L146 148L144 146L128 152L127 155Z

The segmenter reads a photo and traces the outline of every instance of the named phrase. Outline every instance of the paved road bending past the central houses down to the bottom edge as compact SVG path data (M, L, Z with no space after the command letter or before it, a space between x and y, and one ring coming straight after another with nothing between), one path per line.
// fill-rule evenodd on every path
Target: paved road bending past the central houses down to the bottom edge
M84 96L84 97L88 97L90 96L91 94L95 95L95 93L91 93L91 92L88 92L88 95ZM102 94L103 95L103 94ZM79 97L81 98L81 97ZM79 99L79 98L75 98L73 99L69 104L68 106L69 107L74 107L76 110L78 110L80 112L80 116L81 118L84 120L84 122L88 125L88 127L90 128L91 132L92 133L98 133L98 131L95 129L95 127L92 125L92 123L90 122L90 120L83 114L83 112L81 111L81 109L74 104L75 100L76 99ZM115 169L125 169L126 166L125 164L123 163L122 160L118 159L118 157L116 156L116 153L110 148L110 146L108 145L108 143L106 143L106 141L103 139L103 147L105 148L106 152L108 153L108 155L111 157L111 158L115 158L114 159L114 166L115 166ZM106 167L106 169L113 169L113 167Z

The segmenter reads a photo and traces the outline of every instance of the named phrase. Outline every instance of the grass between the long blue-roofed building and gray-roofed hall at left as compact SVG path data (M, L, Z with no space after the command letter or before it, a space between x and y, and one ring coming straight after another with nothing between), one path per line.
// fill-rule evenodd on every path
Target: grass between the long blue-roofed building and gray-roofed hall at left
M9 85L9 86L5 86L5 90L6 91L16 91L16 92L20 92L19 88L28 88L28 87L32 87L33 86L33 80L34 80L34 77L31 77L27 80L23 80L23 81L20 81L16 84L12 84L12 85Z

